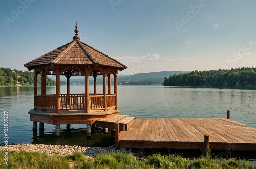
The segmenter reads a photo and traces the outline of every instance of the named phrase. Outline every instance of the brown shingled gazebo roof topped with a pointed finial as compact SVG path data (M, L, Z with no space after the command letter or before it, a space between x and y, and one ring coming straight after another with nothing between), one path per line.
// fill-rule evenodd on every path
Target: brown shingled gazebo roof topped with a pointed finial
M73 41L24 64L24 66L29 70L32 70L37 65L48 64L99 64L116 67L119 70L127 68L124 64L80 41L78 32L76 23L76 34L73 37Z

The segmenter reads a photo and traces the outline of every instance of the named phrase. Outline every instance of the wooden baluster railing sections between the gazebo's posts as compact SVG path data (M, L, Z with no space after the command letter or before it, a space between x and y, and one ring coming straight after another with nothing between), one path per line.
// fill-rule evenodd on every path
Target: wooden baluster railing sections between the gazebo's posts
M60 94L60 110L84 110L85 94ZM34 108L56 109L56 95L44 95L44 102L41 101L41 95L34 96ZM89 94L89 110L104 110L104 95ZM116 107L116 95L106 95L107 108ZM43 104L43 105L42 105Z

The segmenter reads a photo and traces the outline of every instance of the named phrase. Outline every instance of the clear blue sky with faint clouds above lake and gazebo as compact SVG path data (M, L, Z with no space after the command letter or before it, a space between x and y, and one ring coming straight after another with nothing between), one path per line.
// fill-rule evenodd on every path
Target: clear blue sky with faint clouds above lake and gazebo
M0 2L0 67L81 41L126 74L256 66L256 1L20 0ZM122 73L120 73L122 74Z

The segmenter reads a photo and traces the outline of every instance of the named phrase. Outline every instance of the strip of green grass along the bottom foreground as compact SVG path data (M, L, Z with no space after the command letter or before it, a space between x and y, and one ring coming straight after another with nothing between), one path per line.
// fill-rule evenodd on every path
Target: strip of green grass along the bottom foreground
M81 152L50 156L41 152L8 151L8 165L4 164L4 155L5 151L0 151L0 168L256 168L246 160L225 160L210 155L187 160L175 154L153 154L141 161L121 152L87 158Z

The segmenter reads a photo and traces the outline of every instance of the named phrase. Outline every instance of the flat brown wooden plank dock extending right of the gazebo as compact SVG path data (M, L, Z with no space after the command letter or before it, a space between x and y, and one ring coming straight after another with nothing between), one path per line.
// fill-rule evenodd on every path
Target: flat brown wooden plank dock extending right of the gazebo
M135 119L120 133L120 148L201 149L209 135L211 149L256 150L256 129L221 118Z

